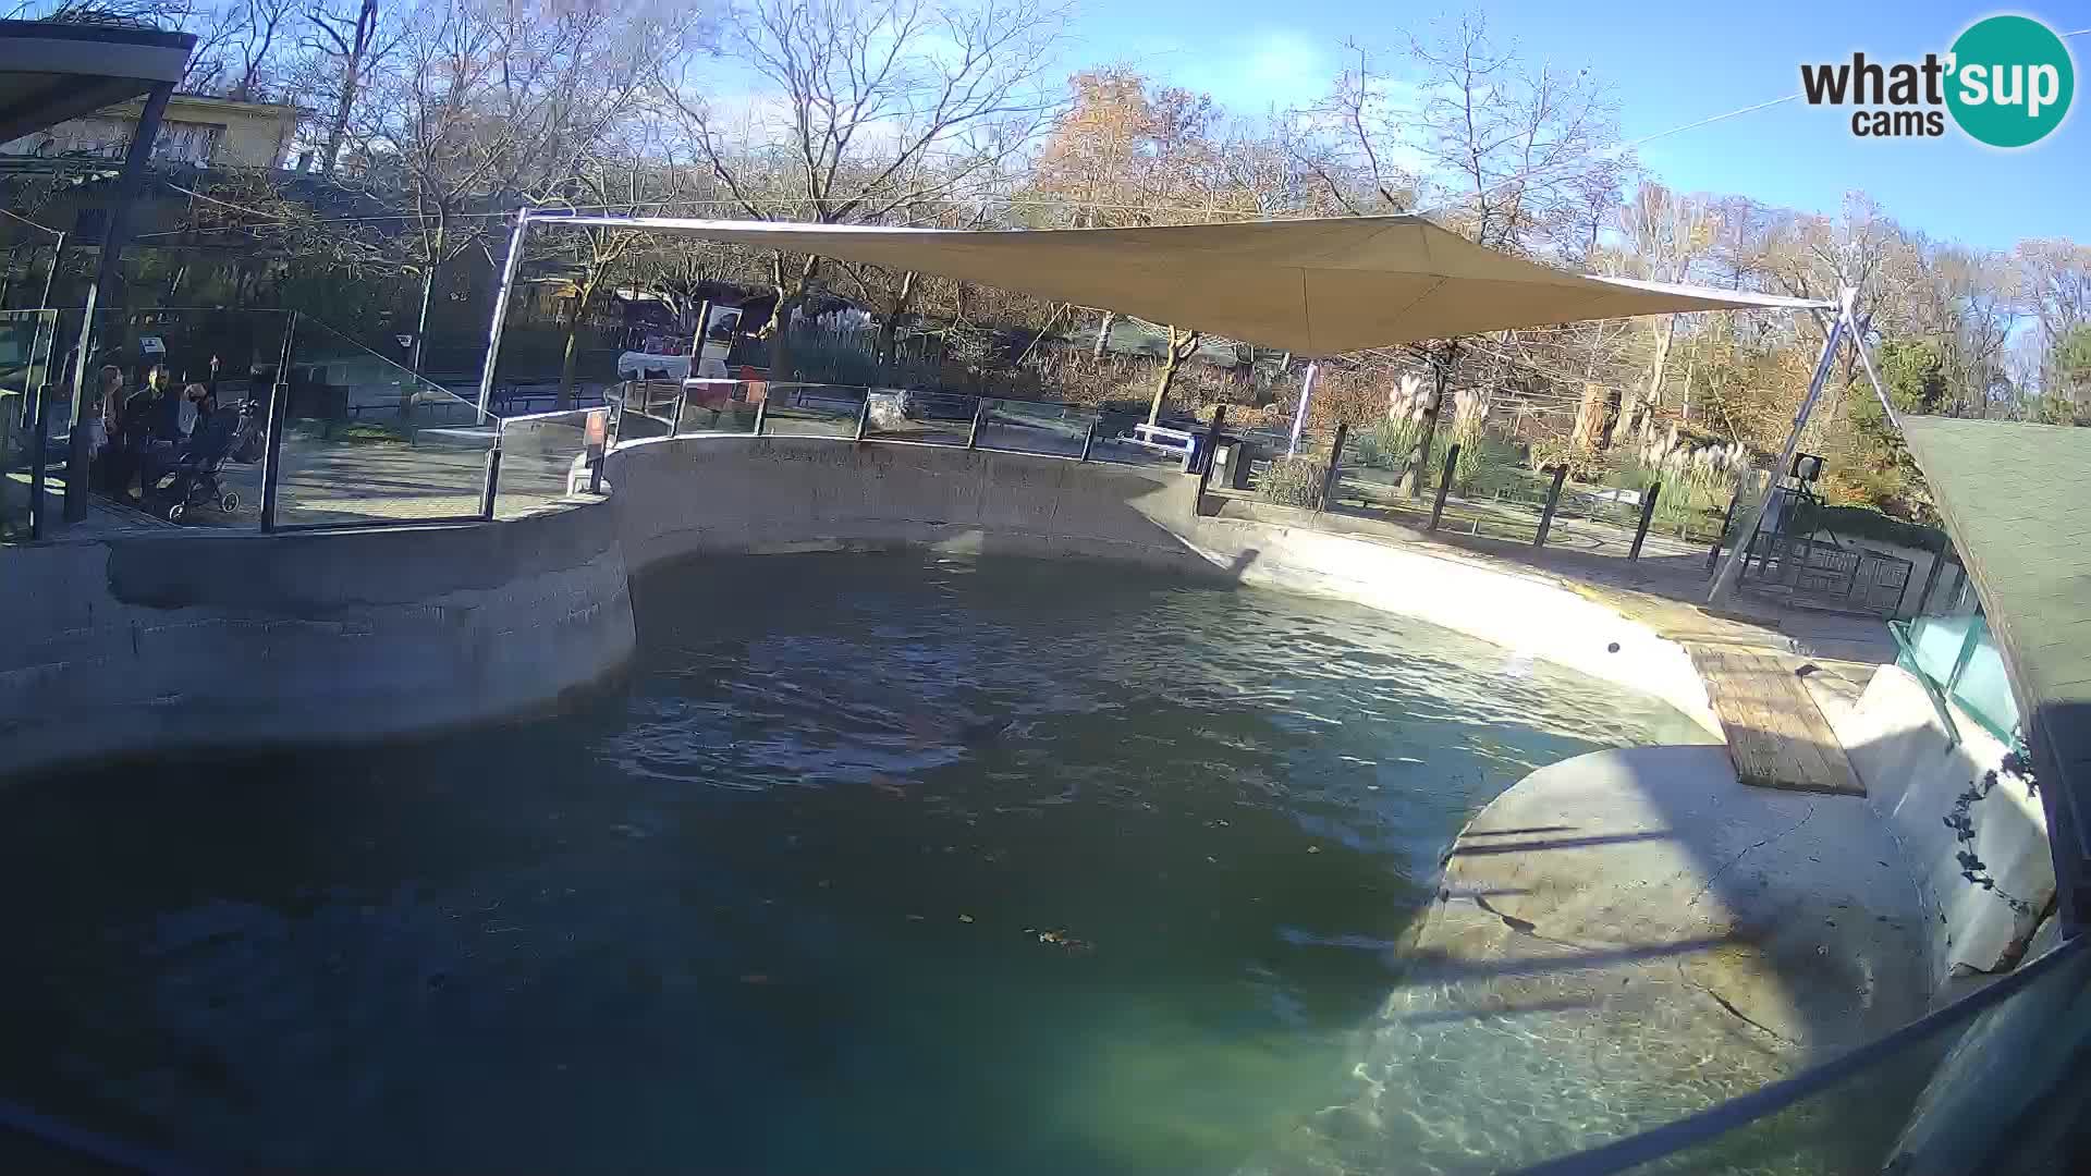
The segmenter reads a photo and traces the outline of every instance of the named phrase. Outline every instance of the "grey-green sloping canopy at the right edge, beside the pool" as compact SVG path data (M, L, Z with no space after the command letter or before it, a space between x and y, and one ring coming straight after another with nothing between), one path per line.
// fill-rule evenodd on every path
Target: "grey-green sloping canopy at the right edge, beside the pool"
M2091 858L2083 820L2091 808L2091 429L1947 416L1903 416L1901 425L2003 649L2049 829L2083 862ZM2062 877L2062 854L2055 864Z

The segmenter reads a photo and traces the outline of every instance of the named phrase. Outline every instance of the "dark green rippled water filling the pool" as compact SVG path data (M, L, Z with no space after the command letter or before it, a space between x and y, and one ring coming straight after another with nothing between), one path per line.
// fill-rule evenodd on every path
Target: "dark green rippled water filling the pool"
M10 789L0 1096L301 1170L1227 1170L1353 1096L1480 804L1702 739L1422 624L1075 561L636 598L588 714Z

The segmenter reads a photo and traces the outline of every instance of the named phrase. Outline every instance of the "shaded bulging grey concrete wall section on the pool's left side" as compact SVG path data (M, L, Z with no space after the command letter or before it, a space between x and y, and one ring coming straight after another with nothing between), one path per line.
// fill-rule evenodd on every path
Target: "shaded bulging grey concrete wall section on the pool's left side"
M606 502L29 546L6 555L0 615L0 774L487 722L556 705L634 651Z

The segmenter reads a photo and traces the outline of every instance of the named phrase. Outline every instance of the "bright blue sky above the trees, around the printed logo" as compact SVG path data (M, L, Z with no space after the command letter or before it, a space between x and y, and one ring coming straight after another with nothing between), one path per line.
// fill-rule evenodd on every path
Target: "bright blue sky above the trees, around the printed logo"
M2055 31L2091 29L2091 0L2024 6L1903 2L1476 2L1493 38L1560 67L1589 67L1621 105L1621 132L1641 138L1800 90L1802 61L1913 61L1945 52L1978 17L2009 10ZM1409 29L1457 6L1384 0L1089 2L1077 63L1131 61L1150 75L1204 90L1242 113L1309 103L1342 69L1342 42L1388 50ZM1740 193L1807 211L1836 211L1863 188L1907 226L1970 245L2028 236L2091 241L2091 36L2072 38L2076 98L2037 146L1999 153L1949 128L1945 138L1861 140L1848 109L1788 103L1650 142L1641 163L1685 190ZM1388 52L1386 61L1395 61Z

